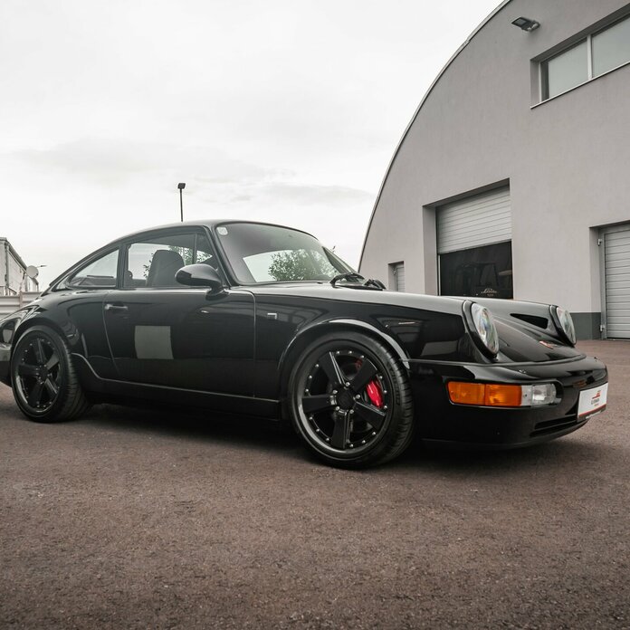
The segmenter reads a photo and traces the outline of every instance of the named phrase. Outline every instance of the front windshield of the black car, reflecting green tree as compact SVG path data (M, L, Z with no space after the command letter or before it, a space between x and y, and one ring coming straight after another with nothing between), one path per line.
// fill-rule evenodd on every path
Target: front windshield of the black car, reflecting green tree
M236 279L243 284L329 281L352 271L310 234L288 227L223 224L216 228L216 235Z

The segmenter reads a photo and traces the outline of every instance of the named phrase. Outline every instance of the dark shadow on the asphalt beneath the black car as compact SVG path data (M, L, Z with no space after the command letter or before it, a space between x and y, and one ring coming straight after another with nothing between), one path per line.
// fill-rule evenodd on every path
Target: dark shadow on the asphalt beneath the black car
M245 415L212 414L198 409L101 405L81 421L117 432L160 434L245 449L263 450L296 461L317 460L302 447L288 423ZM558 440L510 450L484 450L426 445L415 438L406 452L374 470L418 472L501 472L540 465L597 462L609 456L605 444L593 444L569 434ZM323 465L323 464L322 464Z

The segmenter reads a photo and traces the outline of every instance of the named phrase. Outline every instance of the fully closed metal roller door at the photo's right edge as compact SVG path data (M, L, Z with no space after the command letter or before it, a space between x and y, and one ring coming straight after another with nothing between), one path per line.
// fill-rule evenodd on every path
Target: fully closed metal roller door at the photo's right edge
M604 234L606 337L630 339L630 227Z

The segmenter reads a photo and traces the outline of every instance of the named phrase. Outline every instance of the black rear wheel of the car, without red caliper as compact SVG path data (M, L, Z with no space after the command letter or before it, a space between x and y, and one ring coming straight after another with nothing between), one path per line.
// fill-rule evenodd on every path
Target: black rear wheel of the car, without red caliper
M90 408L68 345L46 326L34 326L17 340L11 386L17 406L35 422L72 420Z

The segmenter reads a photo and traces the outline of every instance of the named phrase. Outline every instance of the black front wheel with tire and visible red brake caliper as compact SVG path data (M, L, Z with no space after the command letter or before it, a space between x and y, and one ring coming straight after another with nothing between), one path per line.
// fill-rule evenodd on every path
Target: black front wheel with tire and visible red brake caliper
M384 344L357 332L304 350L289 381L291 421L311 453L341 468L385 463L411 442L406 369Z

